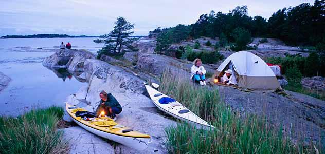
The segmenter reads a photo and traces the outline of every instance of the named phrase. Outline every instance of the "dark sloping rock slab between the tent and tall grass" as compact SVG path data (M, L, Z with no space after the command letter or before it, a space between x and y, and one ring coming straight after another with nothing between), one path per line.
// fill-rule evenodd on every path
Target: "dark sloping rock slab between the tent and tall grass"
M308 95L285 91L277 93L243 92L232 87L214 86L220 97L241 115L258 114L265 116L276 128L283 126L283 131L293 139L299 135L309 140L325 143L325 101Z

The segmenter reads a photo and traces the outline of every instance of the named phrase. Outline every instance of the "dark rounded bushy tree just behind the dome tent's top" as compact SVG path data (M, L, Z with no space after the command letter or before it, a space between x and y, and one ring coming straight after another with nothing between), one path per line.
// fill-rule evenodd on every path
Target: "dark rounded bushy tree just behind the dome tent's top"
M236 45L232 47L234 51L241 51L247 49L247 44L251 42L251 36L248 30L243 28L236 28L231 33Z

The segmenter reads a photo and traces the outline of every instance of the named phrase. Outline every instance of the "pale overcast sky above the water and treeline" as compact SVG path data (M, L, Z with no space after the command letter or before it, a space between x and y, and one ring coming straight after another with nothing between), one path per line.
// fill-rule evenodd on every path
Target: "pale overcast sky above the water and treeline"
M0 0L0 36L58 33L101 35L112 30L118 16L135 24L135 35L157 27L192 24L211 10L223 13L247 5L248 15L269 18L273 12L314 1L229 0Z

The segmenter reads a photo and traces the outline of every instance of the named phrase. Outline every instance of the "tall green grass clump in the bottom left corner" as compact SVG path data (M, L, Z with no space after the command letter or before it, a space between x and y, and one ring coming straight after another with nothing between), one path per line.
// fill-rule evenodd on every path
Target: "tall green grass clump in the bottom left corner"
M63 113L49 107L17 118L0 117L0 153L67 153L69 145L57 130Z

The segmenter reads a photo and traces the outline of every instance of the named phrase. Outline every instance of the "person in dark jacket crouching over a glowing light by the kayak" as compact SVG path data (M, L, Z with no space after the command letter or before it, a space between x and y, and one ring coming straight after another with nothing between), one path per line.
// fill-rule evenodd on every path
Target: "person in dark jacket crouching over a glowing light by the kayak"
M95 112L96 116L99 117L101 112L104 111L105 115L110 116L115 121L116 114L122 112L121 105L111 93L107 94L105 91L101 91L99 97L101 100Z

